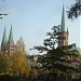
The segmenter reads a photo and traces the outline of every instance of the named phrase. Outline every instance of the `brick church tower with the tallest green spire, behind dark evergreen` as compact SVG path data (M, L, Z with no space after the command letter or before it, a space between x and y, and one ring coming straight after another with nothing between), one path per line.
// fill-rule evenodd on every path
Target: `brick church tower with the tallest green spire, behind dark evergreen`
M60 31L58 33L58 46L68 45L68 33L69 33L68 28L66 30L66 26L65 26L65 11L64 11L64 5L63 5Z

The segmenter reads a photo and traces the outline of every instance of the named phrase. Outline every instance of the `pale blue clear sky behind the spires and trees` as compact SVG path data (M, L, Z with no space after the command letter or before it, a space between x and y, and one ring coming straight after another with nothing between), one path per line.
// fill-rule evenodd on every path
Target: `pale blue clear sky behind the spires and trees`
M0 13L10 13L0 19L0 42L2 41L4 26L6 36L11 25L13 27L14 42L22 36L28 54L37 54L37 51L30 51L33 45L42 45L45 33L51 28L60 25L63 3L65 6L65 22L69 30L69 44L80 43L80 24L81 21L68 19L68 8L73 4L75 0L0 0Z

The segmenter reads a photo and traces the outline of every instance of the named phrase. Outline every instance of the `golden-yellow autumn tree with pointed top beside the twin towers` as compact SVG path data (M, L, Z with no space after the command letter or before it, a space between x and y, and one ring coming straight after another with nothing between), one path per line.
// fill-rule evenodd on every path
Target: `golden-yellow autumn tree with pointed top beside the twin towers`
M29 65L26 59L24 50L24 41L22 38L17 40L14 46L14 54L12 55L12 71L15 73L24 75L29 72Z

